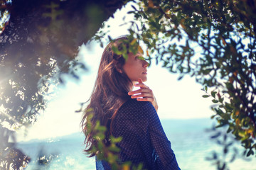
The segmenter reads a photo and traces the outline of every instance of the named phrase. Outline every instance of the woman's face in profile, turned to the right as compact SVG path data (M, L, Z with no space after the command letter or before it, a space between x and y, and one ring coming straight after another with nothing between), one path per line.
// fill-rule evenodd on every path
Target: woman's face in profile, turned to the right
M142 60L142 58L142 53L138 52L134 55L130 52L128 54L128 59L123 66L124 72L133 83L134 81L138 81L139 78L141 78L142 81L146 81L146 67L149 66L149 63Z

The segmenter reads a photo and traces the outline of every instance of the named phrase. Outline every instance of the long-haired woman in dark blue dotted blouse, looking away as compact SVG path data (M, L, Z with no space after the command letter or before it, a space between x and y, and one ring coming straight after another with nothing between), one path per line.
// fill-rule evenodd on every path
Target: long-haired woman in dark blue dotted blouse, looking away
M92 126L97 120L107 127L105 145L108 145L110 134L122 137L119 147L120 164L132 162L132 166L143 164L144 169L179 169L171 144L167 139L156 113L157 103L146 81L148 62L143 60L142 53L134 55L127 51L127 60L116 55L112 47L119 50L129 49L122 43L127 38L117 38L105 48L97 74L94 90L85 115L82 128L85 132L85 144L90 152L95 140L93 132L86 127L86 119L90 115ZM135 84L135 82L138 82ZM133 86L140 89L132 91ZM95 156L91 154L90 157ZM97 158L96 158L97 159ZM97 160L97 169L110 169L107 162Z

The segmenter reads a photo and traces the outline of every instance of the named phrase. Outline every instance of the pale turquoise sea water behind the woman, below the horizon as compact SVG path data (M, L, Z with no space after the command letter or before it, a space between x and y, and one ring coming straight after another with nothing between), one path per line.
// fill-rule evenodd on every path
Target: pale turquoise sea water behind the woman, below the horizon
M217 169L213 162L206 160L206 157L213 155L213 150L222 153L222 147L210 140L212 133L206 132L206 128L213 124L211 120L161 120L161 123L182 170ZM95 169L95 159L87 158L82 152L83 140L82 133L75 133L44 141L21 142L18 147L31 157L27 169ZM48 166L37 166L36 158L40 152L52 159ZM230 155L231 153L233 152L230 152ZM229 160L230 156L226 159ZM228 167L230 170L256 170L255 161L255 157L250 158L250 161L239 158L228 164Z

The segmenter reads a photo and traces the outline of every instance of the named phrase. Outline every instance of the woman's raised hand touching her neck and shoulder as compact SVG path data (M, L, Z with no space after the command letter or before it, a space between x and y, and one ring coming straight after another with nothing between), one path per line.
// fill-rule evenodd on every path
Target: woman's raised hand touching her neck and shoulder
M139 79L138 82L139 83L134 84L134 86L139 86L140 89L136 91L129 91L128 94L131 96L131 98L137 98L137 101L150 101L157 112L158 105L156 103L156 98L153 91L142 82L142 79Z

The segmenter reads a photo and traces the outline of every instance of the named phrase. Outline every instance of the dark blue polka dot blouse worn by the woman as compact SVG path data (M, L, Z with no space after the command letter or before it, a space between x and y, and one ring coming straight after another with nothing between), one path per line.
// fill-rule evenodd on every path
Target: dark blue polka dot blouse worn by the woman
M178 170L178 163L171 142L166 137L159 116L150 102L131 99L124 103L113 120L114 137L122 136L117 144L121 149L119 158L132 165L142 163L144 169ZM97 161L96 166L105 163ZM105 166L104 166L105 164Z

